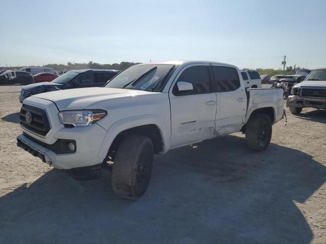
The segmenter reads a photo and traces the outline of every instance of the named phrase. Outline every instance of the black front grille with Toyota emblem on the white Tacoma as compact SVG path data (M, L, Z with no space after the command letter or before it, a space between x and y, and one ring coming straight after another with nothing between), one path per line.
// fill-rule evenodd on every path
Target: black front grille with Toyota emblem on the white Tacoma
M29 112L29 116L26 120L27 112ZM20 125L41 136L45 136L50 130L49 120L45 110L27 104L23 104L20 109Z

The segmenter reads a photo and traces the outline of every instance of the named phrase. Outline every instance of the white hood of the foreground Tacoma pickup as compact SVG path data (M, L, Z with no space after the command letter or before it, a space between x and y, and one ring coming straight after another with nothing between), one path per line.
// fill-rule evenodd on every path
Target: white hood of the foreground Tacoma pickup
M150 95L152 92L143 90L118 89L106 87L88 87L68 90L58 90L37 94L32 97L42 98L54 102L60 111L71 109L99 109L101 102L139 95ZM26 99L28 100L28 99Z

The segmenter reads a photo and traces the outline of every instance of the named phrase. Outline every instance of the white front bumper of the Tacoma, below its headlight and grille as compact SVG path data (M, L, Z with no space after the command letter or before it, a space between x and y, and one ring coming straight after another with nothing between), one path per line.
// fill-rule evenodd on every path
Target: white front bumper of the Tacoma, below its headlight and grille
M103 158L99 158L99 150L102 146L106 131L94 124L90 127L62 128L55 137L57 139L73 139L76 141L76 151L69 154L56 154L44 146L44 143L37 142L24 134L17 137L17 145L28 151L33 156L39 157L58 169L73 169L101 164Z

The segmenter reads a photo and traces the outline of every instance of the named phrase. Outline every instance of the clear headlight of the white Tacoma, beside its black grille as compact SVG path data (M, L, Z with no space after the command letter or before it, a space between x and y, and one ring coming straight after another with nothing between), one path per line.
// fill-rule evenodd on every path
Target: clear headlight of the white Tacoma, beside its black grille
M96 123L106 115L106 111L96 110L67 110L59 113L59 119L64 125L85 127Z

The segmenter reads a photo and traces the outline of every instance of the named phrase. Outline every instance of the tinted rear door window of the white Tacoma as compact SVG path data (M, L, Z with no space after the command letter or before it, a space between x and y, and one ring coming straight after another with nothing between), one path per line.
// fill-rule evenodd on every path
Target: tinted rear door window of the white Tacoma
M231 92L240 87L238 72L232 67L212 66L216 92Z

